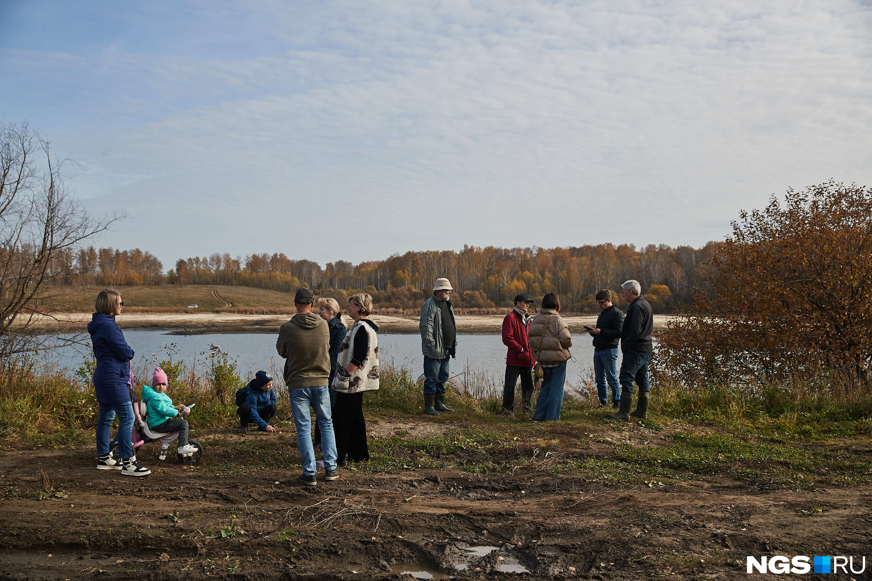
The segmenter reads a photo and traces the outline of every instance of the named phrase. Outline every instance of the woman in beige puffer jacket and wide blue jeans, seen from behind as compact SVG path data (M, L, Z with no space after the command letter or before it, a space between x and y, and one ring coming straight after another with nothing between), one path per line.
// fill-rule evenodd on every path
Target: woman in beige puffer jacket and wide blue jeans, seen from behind
M542 310L530 323L530 352L542 365L544 376L542 388L536 400L534 422L560 419L563 404L563 386L566 384L566 361L572 355L572 335L569 325L563 321L560 311L560 297L548 293L542 297Z

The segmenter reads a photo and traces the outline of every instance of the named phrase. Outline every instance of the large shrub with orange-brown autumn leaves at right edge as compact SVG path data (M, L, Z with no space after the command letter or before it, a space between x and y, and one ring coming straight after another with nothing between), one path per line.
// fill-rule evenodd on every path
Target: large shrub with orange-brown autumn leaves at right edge
M831 181L743 211L705 277L712 292L660 335L659 372L869 394L872 188Z

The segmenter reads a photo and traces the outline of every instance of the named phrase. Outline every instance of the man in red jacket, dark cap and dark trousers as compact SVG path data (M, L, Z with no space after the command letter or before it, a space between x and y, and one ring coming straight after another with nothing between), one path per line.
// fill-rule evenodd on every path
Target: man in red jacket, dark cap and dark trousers
M514 386L521 377L521 397L524 411L530 410L530 398L533 397L533 374L531 370L536 364L530 354L530 338L527 334L530 327L530 304L533 299L526 294L514 297L514 308L502 320L502 342L508 347L506 354L506 384L502 388L502 413L510 414L514 409Z

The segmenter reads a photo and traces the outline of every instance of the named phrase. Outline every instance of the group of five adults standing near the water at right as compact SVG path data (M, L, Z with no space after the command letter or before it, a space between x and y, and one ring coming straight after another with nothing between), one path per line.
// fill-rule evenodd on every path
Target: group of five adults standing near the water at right
M608 417L629 420L631 416L646 417L650 384L648 364L651 360L653 314L644 300L638 280L621 285L623 300L629 303L627 314L612 304L608 289L596 293L600 314L596 327L586 330L593 337L594 375L600 405L608 404L608 388L612 390L612 405L618 408ZM453 287L448 279L438 279L433 295L424 301L420 314L421 349L424 353L424 413L436 415L452 411L446 406L445 383L450 361L457 355L457 322L450 296ZM514 308L502 321L502 342L508 348L506 377L503 384L503 414L514 410L514 391L521 380L521 406L533 412L534 422L560 419L567 361L572 357L572 334L560 316L560 297L548 293L542 297L539 313L531 315L535 303L526 294L514 297ZM618 348L623 352L618 373ZM535 382L542 380L535 410L531 409ZM639 386L637 409L630 413L633 384Z

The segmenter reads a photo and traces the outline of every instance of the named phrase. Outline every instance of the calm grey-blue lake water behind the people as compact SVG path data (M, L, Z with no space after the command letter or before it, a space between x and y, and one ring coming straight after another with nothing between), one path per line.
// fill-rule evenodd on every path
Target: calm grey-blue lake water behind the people
M128 330L124 332L127 344L136 356L134 367L147 365L153 368L153 360L167 359L167 350L173 348L174 360L184 359L188 368L200 368L208 360L210 345L217 345L239 364L242 376L254 375L258 369L281 370L283 358L276 354L276 335L265 333L191 334L170 335L167 331ZM87 334L85 334L87 339ZM594 348L589 334L572 335L573 360L567 365L566 380L578 385L582 377L591 376ZM86 341L90 346L90 341ZM423 373L424 355L421 355L421 339L417 334L379 334L379 356L395 367L405 367L417 377ZM152 356L154 354L154 356ZM61 367L78 368L85 358L92 359L90 347L75 346L58 349L52 361ZM618 360L620 365L620 359ZM451 361L453 373L465 367L474 372L489 375L494 383L501 385L506 371L506 346L498 334L460 334L457 337L457 359Z

